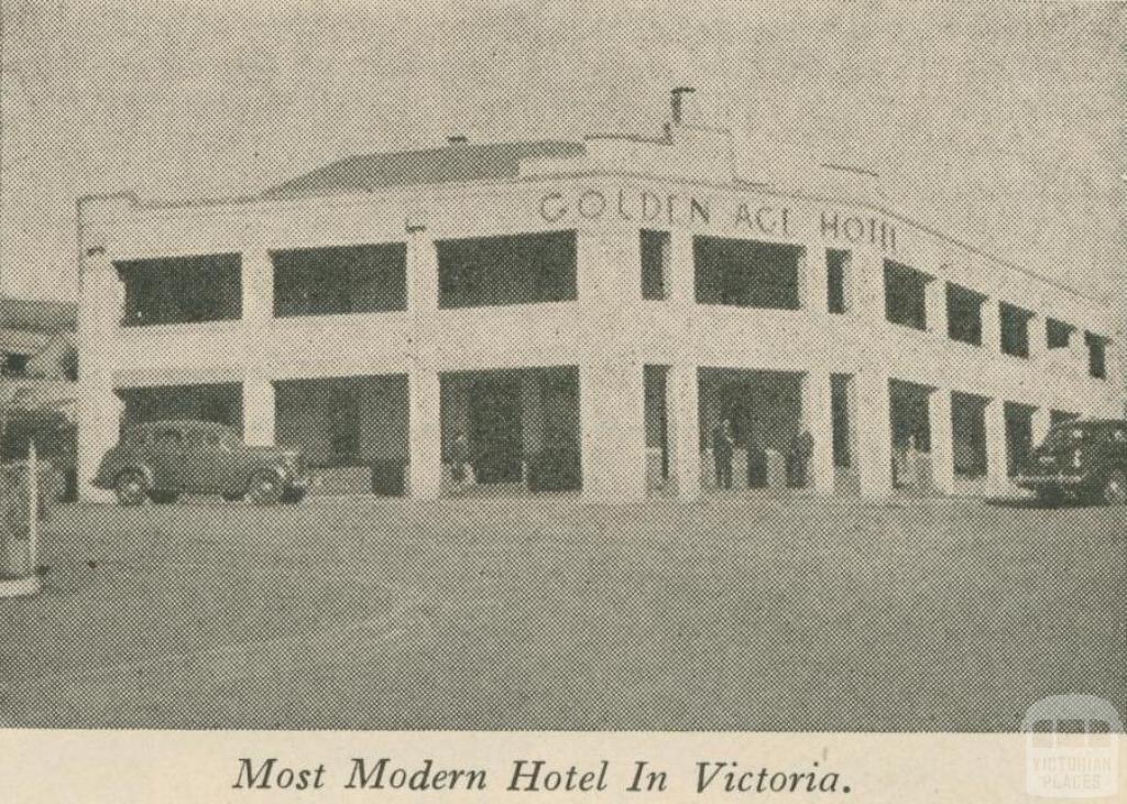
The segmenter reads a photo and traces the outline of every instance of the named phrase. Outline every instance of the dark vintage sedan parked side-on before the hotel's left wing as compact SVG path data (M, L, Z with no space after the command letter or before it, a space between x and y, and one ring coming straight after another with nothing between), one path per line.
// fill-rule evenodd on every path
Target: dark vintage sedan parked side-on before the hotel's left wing
M296 450L248 447L224 424L177 421L128 427L101 459L94 485L122 505L145 498L175 503L181 494L220 494L257 505L298 503L309 478Z

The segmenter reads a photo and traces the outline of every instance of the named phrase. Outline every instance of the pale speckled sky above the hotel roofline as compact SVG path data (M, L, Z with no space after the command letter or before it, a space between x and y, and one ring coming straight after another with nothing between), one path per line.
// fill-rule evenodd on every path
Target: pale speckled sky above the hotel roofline
M454 133L654 134L669 88L689 85L707 122L733 130L742 178L826 161L875 170L891 209L1127 316L1127 3L0 9L9 295L76 298L82 194L248 194Z

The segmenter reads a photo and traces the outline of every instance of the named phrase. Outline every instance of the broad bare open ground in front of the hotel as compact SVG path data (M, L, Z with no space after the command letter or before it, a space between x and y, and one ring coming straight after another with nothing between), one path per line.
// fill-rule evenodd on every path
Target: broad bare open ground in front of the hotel
M1127 712L1127 510L352 500L55 512L0 723L1013 731Z

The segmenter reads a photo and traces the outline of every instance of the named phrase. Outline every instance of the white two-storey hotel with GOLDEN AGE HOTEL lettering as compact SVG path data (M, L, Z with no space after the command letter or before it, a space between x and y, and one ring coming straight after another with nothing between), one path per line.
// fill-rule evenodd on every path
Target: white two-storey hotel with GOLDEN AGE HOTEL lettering
M721 419L737 487L784 485L809 433L806 485L877 497L1004 489L1053 422L1122 415L1111 309L818 169L855 189L742 179L677 90L655 138L452 138L254 197L83 198L83 494L159 418L300 447L330 491L445 494L462 433L479 491L631 501L715 487Z

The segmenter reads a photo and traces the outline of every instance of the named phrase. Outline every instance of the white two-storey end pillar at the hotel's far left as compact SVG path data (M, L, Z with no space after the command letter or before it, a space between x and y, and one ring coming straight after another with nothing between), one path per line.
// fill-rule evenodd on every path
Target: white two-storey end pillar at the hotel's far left
M81 214L81 209L80 209ZM124 288L100 246L88 246L79 270L78 320L78 486L87 502L113 498L91 485L101 458L117 443L123 404L114 389L117 330Z

